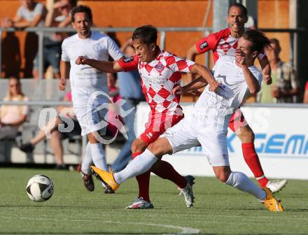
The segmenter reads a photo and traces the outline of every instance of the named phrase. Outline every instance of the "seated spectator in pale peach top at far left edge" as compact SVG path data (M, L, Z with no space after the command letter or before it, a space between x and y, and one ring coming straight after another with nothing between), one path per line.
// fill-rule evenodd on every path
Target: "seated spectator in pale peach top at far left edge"
M29 101L22 94L20 80L10 78L8 81L8 94L4 101ZM27 120L29 107L18 105L3 105L0 108L0 139L14 138L18 129Z

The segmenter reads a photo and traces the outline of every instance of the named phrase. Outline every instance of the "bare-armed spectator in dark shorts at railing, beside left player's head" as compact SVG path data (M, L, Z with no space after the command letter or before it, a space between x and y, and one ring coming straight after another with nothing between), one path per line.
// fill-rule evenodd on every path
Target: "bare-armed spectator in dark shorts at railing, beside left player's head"
M77 5L76 0L59 0L50 7L45 18L45 27L67 27L71 24L69 15L71 9ZM60 78L59 62L61 45L66 33L45 34L43 50L44 72L48 66L52 66L53 77ZM34 78L38 78L38 57L34 61Z

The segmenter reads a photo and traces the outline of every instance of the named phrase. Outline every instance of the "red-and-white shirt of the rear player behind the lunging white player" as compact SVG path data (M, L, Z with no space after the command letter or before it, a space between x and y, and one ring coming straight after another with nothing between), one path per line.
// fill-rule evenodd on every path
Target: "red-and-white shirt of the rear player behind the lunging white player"
M235 56L237 41L239 41L239 38L233 38L230 34L230 28L228 28L200 39L197 41L196 47L199 54L212 50L214 63L216 63L221 56ZM267 58L265 50L262 50L258 55L258 59L265 58Z

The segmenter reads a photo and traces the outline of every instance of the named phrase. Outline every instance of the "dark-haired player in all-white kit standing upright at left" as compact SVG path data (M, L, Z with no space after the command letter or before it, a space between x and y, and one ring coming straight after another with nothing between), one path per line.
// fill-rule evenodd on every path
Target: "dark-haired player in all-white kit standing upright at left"
M113 59L120 59L123 53L109 36L91 31L92 11L89 7L76 6L71 10L71 17L77 34L66 38L62 43L59 89L65 89L66 78L69 78L73 109L82 129L81 134L87 135L89 140L80 173L83 176L85 187L92 191L94 190L93 179L90 175L92 162L95 166L107 169L106 157L98 135L106 132L107 110L106 108L99 110L99 106L109 104L109 92L106 73L87 65L77 66L75 60L79 55L84 55L87 58L108 61L109 55Z

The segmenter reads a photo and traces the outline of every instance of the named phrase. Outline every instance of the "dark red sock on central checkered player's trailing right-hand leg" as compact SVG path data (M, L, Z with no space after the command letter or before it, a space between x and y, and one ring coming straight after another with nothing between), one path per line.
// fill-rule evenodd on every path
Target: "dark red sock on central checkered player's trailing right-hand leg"
M160 176L165 180L171 180L180 188L184 188L187 185L186 178L181 176L169 162L160 161L158 167L151 169L155 175Z

